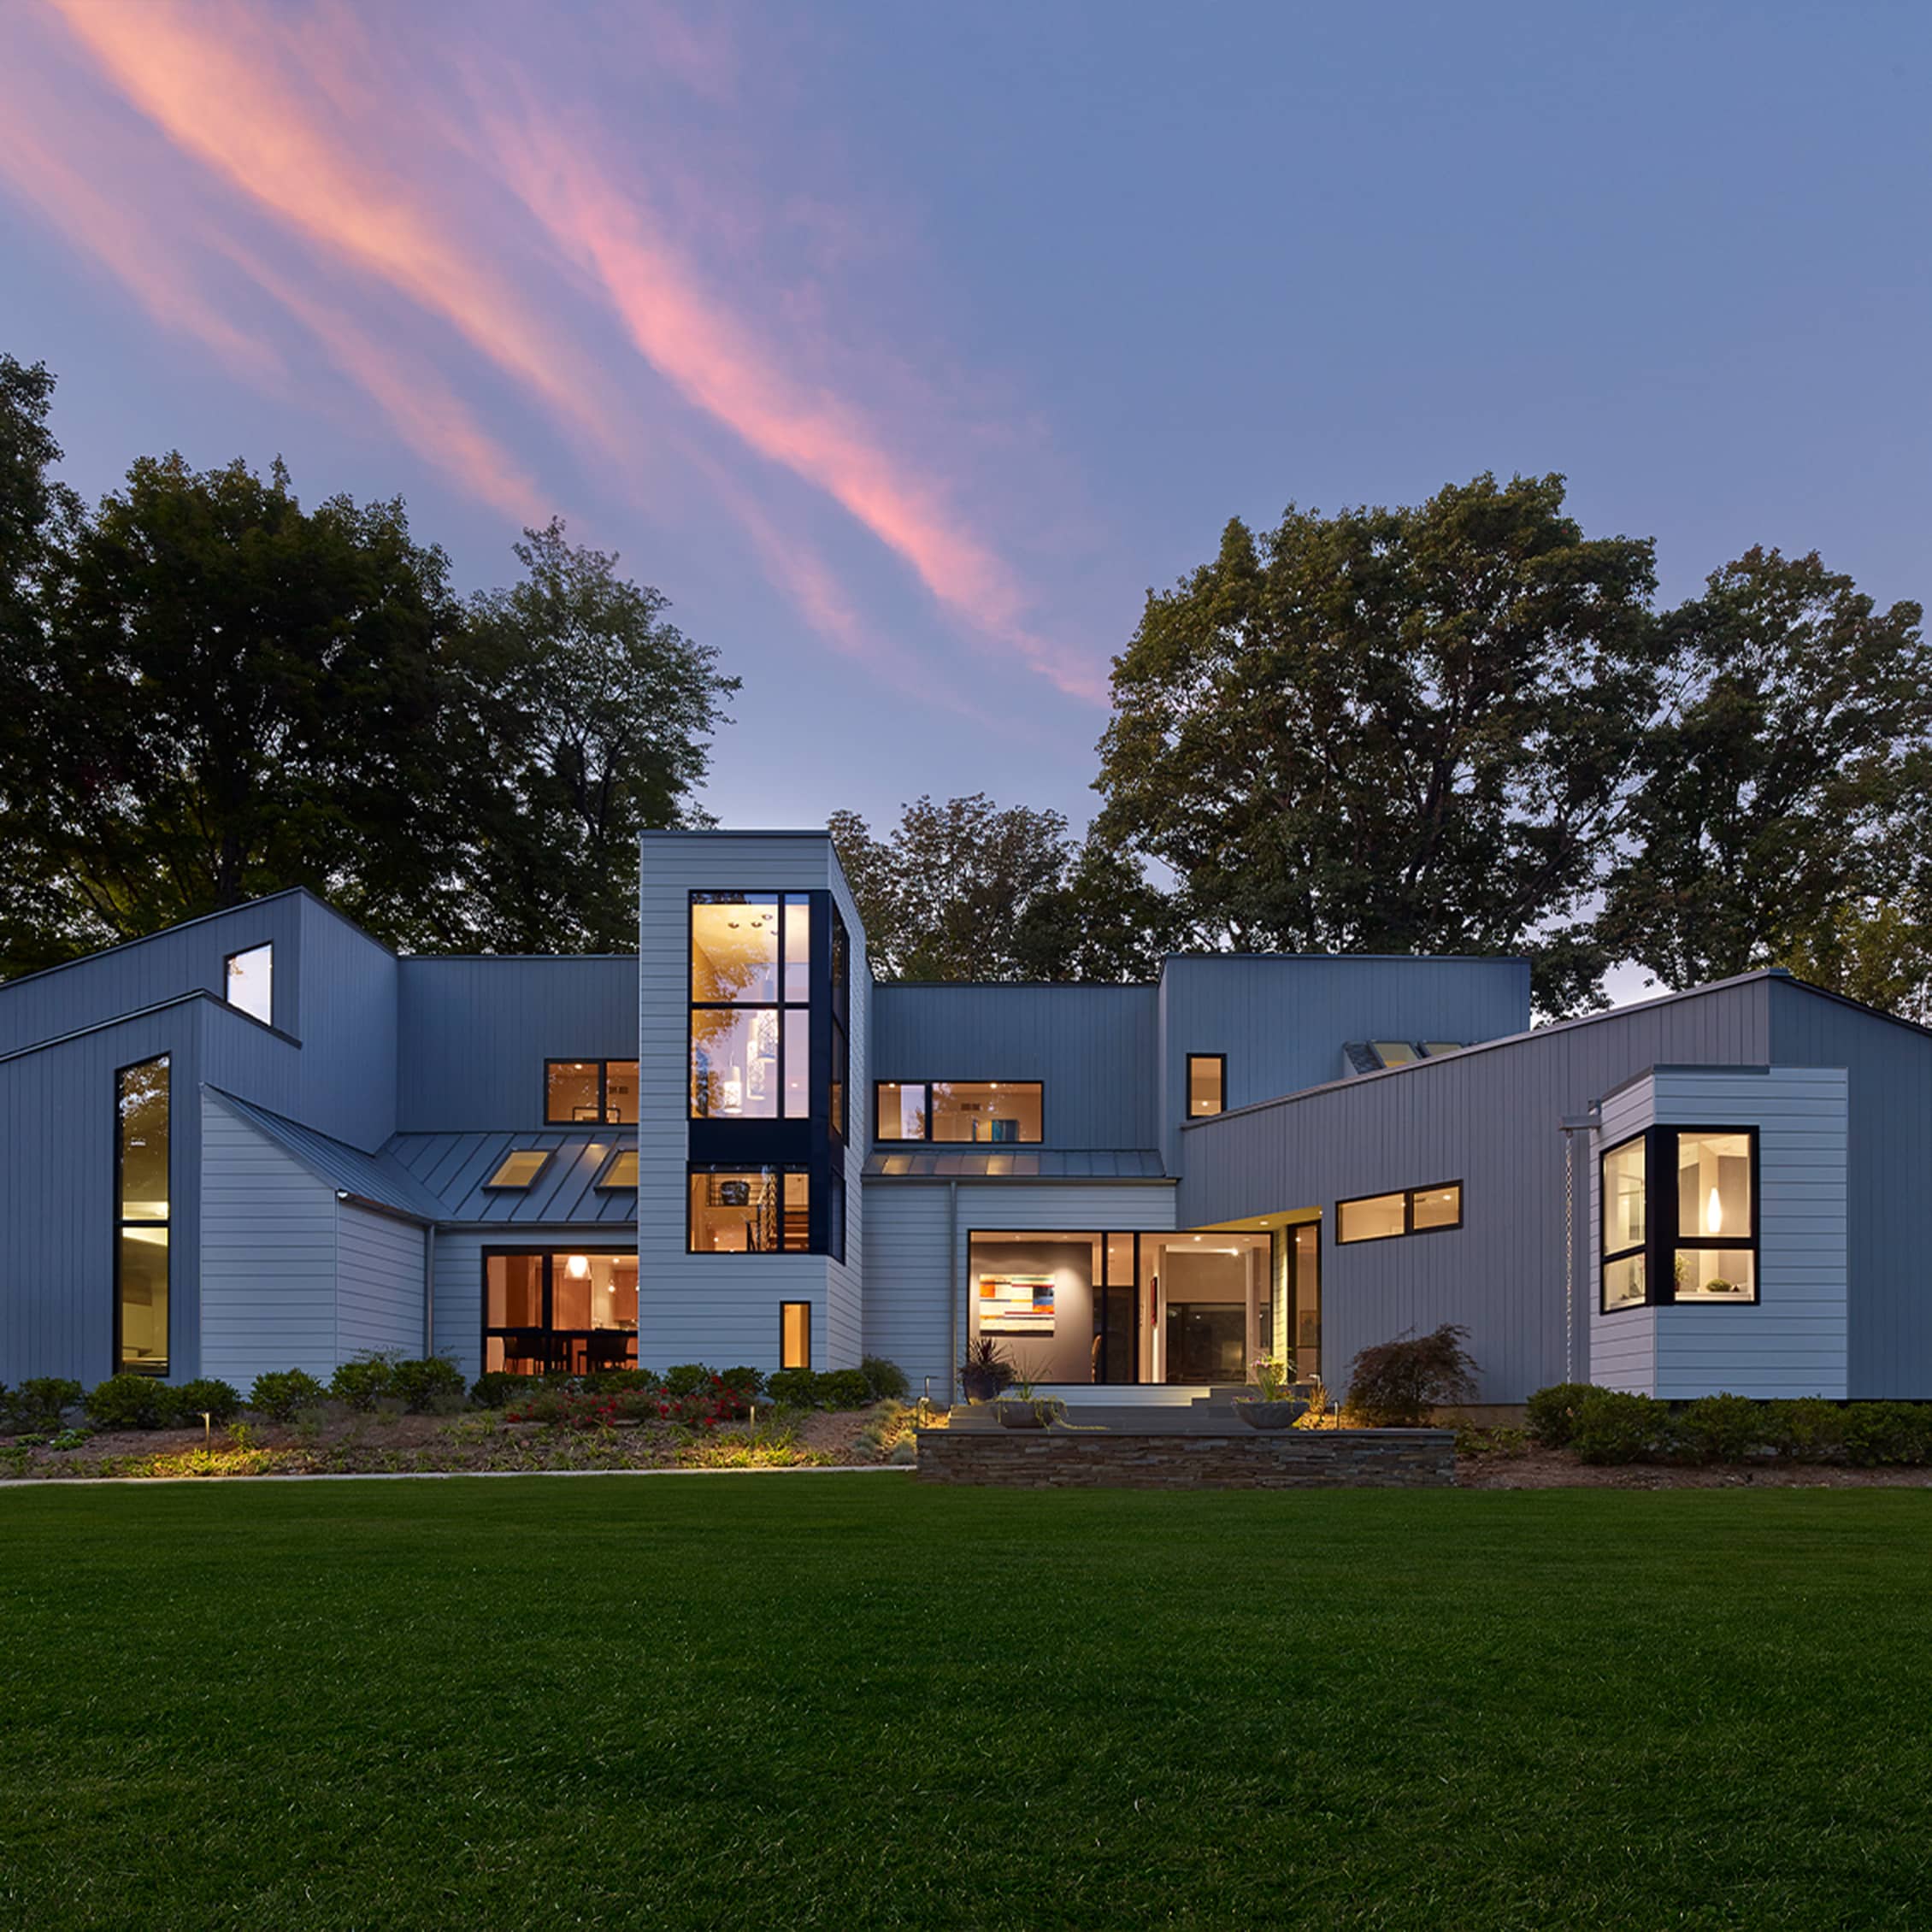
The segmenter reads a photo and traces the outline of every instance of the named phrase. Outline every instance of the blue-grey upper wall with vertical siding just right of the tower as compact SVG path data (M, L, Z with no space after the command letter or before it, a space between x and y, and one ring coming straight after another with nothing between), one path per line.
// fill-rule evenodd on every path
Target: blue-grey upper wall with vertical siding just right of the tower
M881 985L873 1080L1037 1080L1043 1146L1151 1148L1155 1005L1151 985Z

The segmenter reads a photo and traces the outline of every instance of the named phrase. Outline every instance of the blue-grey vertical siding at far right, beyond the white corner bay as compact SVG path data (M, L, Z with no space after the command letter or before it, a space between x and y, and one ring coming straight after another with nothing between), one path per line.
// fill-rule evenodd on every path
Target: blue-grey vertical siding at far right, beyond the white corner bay
M1932 1399L1932 1037L1774 980L1772 1045L1847 1074L1847 1389Z

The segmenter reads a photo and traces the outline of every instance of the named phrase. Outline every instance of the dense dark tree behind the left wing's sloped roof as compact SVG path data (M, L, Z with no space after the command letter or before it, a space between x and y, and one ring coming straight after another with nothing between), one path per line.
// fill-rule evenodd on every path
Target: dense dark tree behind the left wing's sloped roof
M290 885L413 937L448 844L446 572L400 500L303 510L280 464L135 462L14 659L35 730L0 788L39 916L8 923L0 970Z

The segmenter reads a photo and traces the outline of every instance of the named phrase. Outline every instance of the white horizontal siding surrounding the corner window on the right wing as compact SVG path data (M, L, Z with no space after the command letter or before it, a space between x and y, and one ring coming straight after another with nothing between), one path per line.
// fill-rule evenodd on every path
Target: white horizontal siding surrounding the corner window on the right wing
M1758 1128L1758 1300L1592 1318L1592 1379L1665 1401L1847 1395L1847 1078L1835 1066L1658 1068L1605 1107L1600 1146L1640 1126ZM1592 1161L1592 1209L1594 1209ZM1592 1211L1592 1242L1596 1238ZM1592 1271L1592 1296L1596 1293ZM1613 1341L1627 1323L1640 1347ZM1636 1337L1633 1335L1633 1341ZM1615 1378L1615 1379L1613 1379Z

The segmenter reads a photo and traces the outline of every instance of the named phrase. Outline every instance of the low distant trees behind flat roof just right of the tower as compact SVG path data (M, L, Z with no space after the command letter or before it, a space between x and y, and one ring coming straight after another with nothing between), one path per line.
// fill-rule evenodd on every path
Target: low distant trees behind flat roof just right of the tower
M1121 854L1076 844L1059 811L983 792L906 806L875 838L856 811L831 835L883 980L1136 980L1167 908Z

